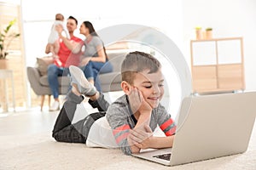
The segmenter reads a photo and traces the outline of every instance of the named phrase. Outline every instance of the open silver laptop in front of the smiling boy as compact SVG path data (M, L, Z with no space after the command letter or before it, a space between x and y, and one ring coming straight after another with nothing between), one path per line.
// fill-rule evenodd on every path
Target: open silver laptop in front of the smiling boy
M132 154L166 166L245 152L256 116L256 92L183 99L172 148Z

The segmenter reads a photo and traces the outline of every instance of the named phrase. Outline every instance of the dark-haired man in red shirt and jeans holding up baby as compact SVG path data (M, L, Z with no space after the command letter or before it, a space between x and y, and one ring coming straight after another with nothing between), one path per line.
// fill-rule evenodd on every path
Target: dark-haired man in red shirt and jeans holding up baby
M83 42L79 37L75 37L73 32L77 29L78 20L73 16L69 16L67 19L67 30L70 35L70 42ZM45 53L50 53L50 47L52 44L47 44L45 48ZM55 42L55 62L48 67L48 82L49 88L54 96L55 101L49 107L49 111L60 110L60 100L59 100L59 82L58 77L67 76L69 74L69 65L79 65L80 52L73 54L71 48L67 47L66 44L59 38Z

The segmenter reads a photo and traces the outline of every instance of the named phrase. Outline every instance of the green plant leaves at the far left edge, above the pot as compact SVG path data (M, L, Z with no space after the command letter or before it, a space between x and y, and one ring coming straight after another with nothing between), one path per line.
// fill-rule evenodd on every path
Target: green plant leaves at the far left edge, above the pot
M0 59L5 59L9 54L8 49L15 37L19 37L20 33L10 33L10 29L15 25L16 20L9 21L9 25L0 33Z

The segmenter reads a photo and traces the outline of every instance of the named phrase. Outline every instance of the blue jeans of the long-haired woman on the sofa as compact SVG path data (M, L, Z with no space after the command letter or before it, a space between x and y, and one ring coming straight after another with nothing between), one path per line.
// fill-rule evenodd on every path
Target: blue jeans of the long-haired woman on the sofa
M87 65L81 68L84 71L85 77L90 80L93 79L95 82L95 87L99 92L102 92L101 83L98 78L99 73L108 73L113 71L113 66L110 62L94 62L89 61Z

